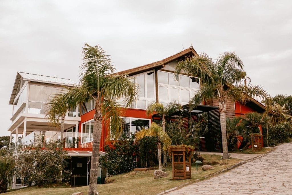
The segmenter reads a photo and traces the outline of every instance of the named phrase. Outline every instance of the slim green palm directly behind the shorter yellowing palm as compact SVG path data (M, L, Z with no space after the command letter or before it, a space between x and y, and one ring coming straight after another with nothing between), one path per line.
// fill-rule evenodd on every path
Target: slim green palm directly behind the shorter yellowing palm
M162 130L163 132L165 132L165 115L174 113L180 107L181 107L180 104L177 104L175 102L168 104L166 107L162 103L159 103L159 102L150 103L147 106L146 116L152 115L153 112L156 111L157 114L159 114L162 119ZM166 157L166 150L164 150L163 151L163 166L166 166L166 165L167 165L167 157Z

